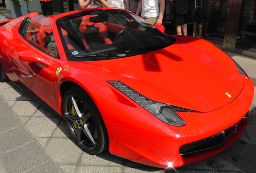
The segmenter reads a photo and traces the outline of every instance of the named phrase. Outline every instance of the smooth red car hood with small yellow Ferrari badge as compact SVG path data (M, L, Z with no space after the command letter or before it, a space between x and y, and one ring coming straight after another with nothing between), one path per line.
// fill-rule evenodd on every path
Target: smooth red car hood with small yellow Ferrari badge
M175 44L161 50L84 63L161 103L200 112L231 103L244 86L233 60L204 40L175 37Z

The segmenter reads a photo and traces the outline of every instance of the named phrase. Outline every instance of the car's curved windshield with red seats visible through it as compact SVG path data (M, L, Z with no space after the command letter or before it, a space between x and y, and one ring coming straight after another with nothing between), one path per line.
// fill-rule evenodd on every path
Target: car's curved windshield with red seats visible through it
M68 60L123 58L159 50L176 40L126 10L95 9L56 21Z

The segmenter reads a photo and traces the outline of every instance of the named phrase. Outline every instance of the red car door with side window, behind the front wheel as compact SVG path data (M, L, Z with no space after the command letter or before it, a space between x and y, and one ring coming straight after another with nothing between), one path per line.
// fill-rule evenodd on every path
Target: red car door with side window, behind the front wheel
M18 80L56 109L54 81L60 59L50 19L45 16L26 18L14 39L9 56Z

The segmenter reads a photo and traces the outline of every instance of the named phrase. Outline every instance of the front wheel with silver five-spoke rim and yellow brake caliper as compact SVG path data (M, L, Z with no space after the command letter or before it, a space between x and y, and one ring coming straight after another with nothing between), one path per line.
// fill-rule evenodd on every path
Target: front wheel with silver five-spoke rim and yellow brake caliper
M109 148L107 130L91 97L78 86L64 95L63 110L68 129L78 146L91 155Z

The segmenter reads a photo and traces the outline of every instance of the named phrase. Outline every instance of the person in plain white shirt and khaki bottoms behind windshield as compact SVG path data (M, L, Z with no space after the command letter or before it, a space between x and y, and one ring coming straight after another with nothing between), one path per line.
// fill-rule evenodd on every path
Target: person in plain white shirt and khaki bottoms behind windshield
M139 15L140 12L141 17L149 23L153 25L162 24L163 14L165 12L165 0L140 0L136 14Z

